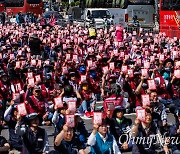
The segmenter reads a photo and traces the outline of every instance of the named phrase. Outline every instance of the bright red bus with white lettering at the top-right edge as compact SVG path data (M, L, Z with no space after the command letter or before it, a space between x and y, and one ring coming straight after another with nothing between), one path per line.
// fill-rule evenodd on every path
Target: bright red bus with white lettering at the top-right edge
M180 38L180 0L160 0L160 32Z

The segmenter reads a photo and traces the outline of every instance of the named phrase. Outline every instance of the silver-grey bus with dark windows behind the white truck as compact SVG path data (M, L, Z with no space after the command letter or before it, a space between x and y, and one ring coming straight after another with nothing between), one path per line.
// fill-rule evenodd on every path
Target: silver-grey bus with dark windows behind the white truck
M140 26L153 28L155 19L154 0L81 0L82 8L107 8L115 24L128 27L137 16Z

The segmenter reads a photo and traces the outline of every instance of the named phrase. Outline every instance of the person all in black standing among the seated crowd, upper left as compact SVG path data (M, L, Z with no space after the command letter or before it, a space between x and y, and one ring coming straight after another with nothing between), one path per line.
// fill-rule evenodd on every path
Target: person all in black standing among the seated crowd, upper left
M38 38L37 34L33 34L29 40L29 47L31 50L31 56L38 59L41 56L41 40Z

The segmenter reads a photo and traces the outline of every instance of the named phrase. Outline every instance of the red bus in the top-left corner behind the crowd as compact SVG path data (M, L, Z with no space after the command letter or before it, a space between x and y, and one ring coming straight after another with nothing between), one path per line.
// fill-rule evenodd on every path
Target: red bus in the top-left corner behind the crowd
M5 9L7 15L30 12L38 16L44 12L42 0L5 0Z

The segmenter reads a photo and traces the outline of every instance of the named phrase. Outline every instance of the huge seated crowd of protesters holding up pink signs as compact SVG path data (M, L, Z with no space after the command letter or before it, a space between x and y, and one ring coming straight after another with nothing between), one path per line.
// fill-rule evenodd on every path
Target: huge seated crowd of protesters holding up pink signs
M0 137L0 153L179 154L171 142L180 137L179 54L177 37L141 28L1 24L0 118L9 140ZM135 121L124 115L133 112ZM54 127L54 151L42 125ZM166 142L133 140L153 135Z

